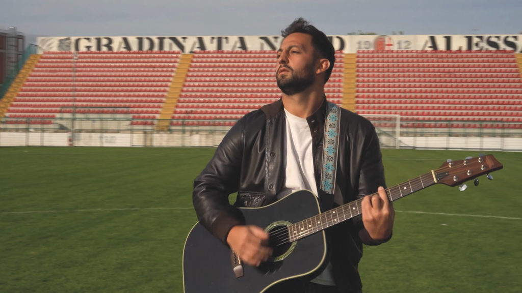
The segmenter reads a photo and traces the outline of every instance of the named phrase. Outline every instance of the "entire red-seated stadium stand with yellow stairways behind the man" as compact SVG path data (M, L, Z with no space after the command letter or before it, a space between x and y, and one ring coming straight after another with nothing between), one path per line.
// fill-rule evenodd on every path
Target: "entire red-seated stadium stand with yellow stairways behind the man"
M231 126L279 99L275 56L44 52L20 72L0 114L5 124L22 125L56 125L75 116L156 130ZM325 91L331 102L361 115L400 115L401 127L520 128L521 70L522 58L502 50L336 52Z

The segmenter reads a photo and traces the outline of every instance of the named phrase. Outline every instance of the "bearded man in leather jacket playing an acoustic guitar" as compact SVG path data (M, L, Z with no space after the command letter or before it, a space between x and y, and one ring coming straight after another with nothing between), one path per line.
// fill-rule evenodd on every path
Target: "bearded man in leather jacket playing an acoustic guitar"
M281 99L241 118L227 133L206 168L194 181L198 219L230 246L244 263L259 266L272 250L264 227L243 223L236 207L271 204L292 191L309 189L322 210L362 201L356 217L327 229L331 258L312 280L281 282L268 292L360 292L358 263L362 243L390 239L395 212L389 203L378 138L366 119L340 109L336 184L321 189L328 103L324 84L335 62L326 35L302 18L282 31L276 79ZM238 192L234 206L228 196Z

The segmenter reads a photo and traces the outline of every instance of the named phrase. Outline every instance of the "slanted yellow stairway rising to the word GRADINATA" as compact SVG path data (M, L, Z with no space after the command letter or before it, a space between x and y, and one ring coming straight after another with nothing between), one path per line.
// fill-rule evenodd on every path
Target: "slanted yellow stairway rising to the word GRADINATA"
M170 84L169 92L167 93L167 99L165 99L165 103L161 109L156 130L169 130L170 118L174 113L177 100L180 98L181 89L183 88L183 83L187 77L188 67L192 62L193 56L194 54L181 55L180 63L177 65L176 73L172 79L172 83Z

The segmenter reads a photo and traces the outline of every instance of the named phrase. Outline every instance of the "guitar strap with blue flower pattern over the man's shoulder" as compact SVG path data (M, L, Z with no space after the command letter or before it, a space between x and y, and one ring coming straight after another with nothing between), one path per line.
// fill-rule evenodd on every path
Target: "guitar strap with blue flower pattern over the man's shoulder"
M341 122L339 107L334 103L327 103L327 116L323 140L323 171L321 174L321 190L326 194L323 197L319 197L323 209L329 209L334 200L333 194L335 191L337 149L339 147L339 125Z

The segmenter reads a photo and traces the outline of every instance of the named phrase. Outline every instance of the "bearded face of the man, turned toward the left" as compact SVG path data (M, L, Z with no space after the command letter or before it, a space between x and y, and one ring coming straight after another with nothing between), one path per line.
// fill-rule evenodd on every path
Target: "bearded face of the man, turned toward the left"
M314 82L314 47L312 36L292 33L284 38L277 51L276 79L281 91L287 95L303 92Z

